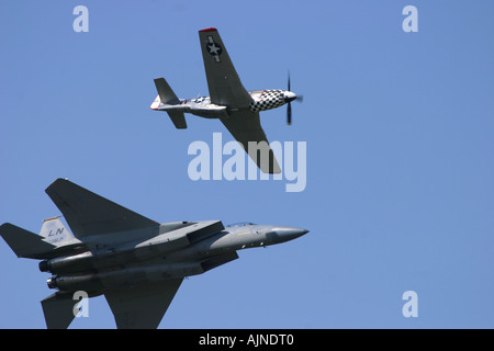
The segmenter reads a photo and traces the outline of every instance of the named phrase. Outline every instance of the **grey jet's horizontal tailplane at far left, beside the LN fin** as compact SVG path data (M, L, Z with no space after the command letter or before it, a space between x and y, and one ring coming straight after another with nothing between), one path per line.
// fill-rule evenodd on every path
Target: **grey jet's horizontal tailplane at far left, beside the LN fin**
M55 245L43 240L42 236L10 223L0 226L0 235L19 258L44 259L48 252L56 248Z

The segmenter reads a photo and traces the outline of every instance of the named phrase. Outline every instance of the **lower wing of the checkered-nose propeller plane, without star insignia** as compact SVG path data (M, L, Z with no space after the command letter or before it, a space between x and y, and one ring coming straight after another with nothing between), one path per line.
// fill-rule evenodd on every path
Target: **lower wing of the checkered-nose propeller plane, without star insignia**
M281 173L280 166L260 125L258 112L237 111L232 113L229 117L220 118L220 121L263 173ZM249 141L255 141L256 147L252 147L252 144L249 146ZM258 149L260 149L260 152Z

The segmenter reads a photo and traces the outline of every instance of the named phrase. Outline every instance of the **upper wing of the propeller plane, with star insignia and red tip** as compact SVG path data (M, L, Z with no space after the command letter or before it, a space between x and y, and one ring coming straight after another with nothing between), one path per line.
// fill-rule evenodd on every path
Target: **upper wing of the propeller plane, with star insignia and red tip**
M233 110L247 109L252 101L238 78L216 29L199 31L211 102Z

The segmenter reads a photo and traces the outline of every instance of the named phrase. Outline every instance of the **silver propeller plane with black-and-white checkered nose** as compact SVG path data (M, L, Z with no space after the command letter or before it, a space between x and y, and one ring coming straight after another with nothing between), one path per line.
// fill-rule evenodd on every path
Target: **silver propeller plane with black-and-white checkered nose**
M247 91L238 78L217 30L211 27L199 31L199 39L210 97L178 99L165 78L157 78L155 84L158 95L150 109L166 111L179 129L187 128L183 113L192 113L205 118L220 118L262 172L280 173L280 166L269 148L265 131L260 125L259 112L288 103L288 124L291 124L290 102L295 99L301 100L301 97L297 98L290 91L290 77L288 90ZM255 144L249 146L249 141ZM260 149L260 157L258 149Z

